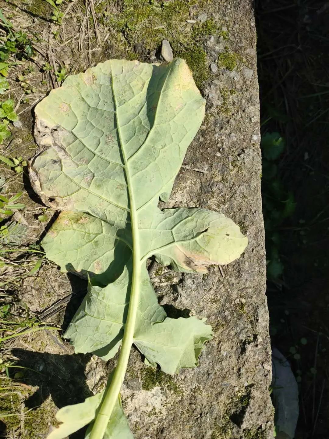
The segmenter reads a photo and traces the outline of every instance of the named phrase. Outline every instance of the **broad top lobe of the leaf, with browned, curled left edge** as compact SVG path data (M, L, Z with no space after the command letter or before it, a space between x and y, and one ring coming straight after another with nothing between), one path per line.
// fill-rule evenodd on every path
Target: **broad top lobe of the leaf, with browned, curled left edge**
M185 61L110 60L69 76L36 106L41 152L32 184L61 210L130 220L126 173L137 209L171 190L205 101Z

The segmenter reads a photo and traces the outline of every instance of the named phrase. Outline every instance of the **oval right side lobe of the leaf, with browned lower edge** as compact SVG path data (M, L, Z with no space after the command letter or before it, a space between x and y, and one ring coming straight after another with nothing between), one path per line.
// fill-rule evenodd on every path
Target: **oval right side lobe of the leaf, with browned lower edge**
M178 271L207 273L239 258L248 239L232 219L207 209L164 209L145 217L142 253Z

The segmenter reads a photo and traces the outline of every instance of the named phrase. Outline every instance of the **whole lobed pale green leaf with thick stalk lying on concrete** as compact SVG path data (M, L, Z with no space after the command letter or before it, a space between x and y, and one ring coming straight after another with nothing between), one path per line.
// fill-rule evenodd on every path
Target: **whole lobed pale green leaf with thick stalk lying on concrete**
M181 59L106 61L69 76L36 106L40 148L30 163L32 184L63 211L42 244L61 270L90 278L65 336L75 352L106 360L121 345L113 379L83 421L92 423L90 439L111 437L108 425L118 425L115 407L132 344L173 374L196 366L212 338L205 319L166 316L147 258L204 273L238 258L247 245L239 227L219 213L157 207L159 197L168 200L204 106Z

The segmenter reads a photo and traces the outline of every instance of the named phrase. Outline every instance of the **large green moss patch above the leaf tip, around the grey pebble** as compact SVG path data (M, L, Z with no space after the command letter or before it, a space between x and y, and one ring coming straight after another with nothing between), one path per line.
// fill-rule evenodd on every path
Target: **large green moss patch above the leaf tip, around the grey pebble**
M212 18L204 23L187 23L190 7L196 4L202 7L201 3L197 0L189 4L181 0L121 0L117 4L107 0L96 7L96 12L99 22L109 27L115 45L129 60L145 59L167 39L174 56L186 60L200 88L209 77L204 39L219 32Z

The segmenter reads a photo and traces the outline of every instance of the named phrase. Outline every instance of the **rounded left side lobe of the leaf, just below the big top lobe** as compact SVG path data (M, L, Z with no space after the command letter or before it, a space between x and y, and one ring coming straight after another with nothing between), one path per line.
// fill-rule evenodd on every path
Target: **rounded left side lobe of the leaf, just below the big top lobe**
M61 212L42 245L61 271L113 282L131 257L131 231L125 223L106 223L81 212Z

